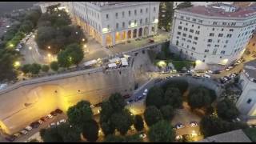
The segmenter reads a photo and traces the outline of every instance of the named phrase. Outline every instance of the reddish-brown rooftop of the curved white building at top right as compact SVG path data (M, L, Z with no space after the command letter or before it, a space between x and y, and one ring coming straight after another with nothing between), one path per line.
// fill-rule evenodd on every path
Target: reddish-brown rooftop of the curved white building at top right
M230 10L232 12L230 12ZM193 6L180 11L211 17L245 18L256 14L256 4L253 3L251 5L241 7L238 5L234 6L217 3L210 6Z

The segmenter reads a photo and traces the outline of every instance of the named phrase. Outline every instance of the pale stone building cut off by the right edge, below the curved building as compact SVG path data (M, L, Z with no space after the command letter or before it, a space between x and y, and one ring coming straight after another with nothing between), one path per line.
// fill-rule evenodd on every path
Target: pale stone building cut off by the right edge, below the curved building
M256 116L256 60L246 62L239 83L242 94L236 103L238 110L242 114Z

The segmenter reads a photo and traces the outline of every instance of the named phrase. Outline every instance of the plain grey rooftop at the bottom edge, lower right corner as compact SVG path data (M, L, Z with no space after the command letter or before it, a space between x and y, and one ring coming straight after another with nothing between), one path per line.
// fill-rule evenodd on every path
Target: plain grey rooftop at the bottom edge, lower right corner
M251 142L242 130L233 130L223 134L207 137L198 142Z

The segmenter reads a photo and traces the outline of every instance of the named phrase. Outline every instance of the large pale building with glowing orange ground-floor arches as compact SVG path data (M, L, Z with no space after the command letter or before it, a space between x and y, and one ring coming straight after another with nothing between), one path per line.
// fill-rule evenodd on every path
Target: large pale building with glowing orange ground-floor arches
M160 2L71 2L75 22L102 46L157 33Z

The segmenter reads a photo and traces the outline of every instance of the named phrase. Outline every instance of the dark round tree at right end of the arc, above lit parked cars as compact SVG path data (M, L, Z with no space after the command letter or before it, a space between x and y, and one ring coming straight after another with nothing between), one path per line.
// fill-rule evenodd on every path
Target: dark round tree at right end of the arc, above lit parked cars
M202 108L210 105L209 91L204 87L197 87L191 90L188 96L188 104L191 109Z

